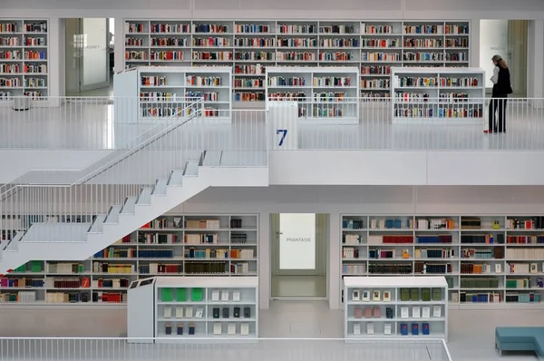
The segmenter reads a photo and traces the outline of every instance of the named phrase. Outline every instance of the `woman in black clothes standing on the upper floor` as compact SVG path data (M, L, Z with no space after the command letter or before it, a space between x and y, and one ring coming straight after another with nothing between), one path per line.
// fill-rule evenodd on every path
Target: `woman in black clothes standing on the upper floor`
M506 132L506 102L508 94L512 93L510 70L500 55L494 55L491 61L495 64L495 68L491 76L493 93L490 101L490 121L488 129L483 132Z

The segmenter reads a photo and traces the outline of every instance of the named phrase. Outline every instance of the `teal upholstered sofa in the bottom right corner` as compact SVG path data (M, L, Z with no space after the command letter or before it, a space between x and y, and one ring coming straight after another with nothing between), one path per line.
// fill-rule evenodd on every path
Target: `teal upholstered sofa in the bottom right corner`
M544 327L496 327L495 348L502 351L534 351L544 359Z

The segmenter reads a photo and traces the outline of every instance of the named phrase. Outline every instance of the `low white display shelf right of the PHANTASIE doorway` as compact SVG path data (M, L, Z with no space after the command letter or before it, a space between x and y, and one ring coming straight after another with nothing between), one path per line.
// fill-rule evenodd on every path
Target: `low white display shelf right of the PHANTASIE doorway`
M448 340L448 284L443 277L344 278L345 340Z

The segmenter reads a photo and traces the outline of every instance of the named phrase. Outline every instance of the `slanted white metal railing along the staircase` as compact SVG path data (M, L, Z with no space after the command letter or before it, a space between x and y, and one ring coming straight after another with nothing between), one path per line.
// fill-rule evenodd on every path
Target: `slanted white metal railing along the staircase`
M201 99L179 102L174 116L147 126L134 138L80 171L34 170L0 187L0 232L8 249L17 236L33 223L84 223L97 225L112 206L121 206L127 197L141 197L141 190L157 187L170 173L184 170L188 161L201 161ZM205 129L205 128L204 128ZM164 183L166 186L166 183ZM151 194L151 193L150 193ZM101 221L96 221L102 217ZM11 220L6 222L5 220ZM6 224L7 223L7 224ZM50 234L40 230L29 235L35 241L77 241L77 227ZM98 229L97 229L98 230ZM13 246L13 245L12 245Z

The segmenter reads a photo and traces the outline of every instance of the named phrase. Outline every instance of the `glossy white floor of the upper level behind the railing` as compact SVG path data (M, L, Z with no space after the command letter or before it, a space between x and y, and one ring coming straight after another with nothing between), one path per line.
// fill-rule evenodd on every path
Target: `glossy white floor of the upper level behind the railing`
M369 108L363 111L358 125L300 125L298 148L544 150L542 111L512 106L507 133L486 135L483 123L392 125L387 109ZM112 147L113 123L114 109L105 98L74 99L59 108L26 112L0 108L0 148L108 149ZM265 131L264 111L234 111L232 124L200 127L199 135L219 151L265 151Z

